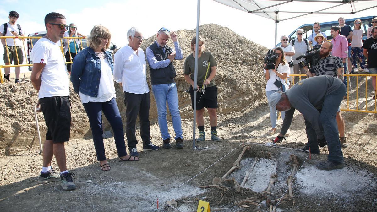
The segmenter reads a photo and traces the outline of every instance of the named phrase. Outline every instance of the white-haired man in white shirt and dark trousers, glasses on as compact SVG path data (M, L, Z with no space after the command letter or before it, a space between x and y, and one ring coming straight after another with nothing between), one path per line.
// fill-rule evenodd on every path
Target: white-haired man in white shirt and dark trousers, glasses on
M114 80L120 83L124 91L126 105L126 137L130 155L138 157L136 149L136 118L139 115L140 136L144 151L156 151L158 146L150 142L149 107L150 96L146 77L146 60L143 49L143 35L136 28L127 32L129 44L119 49L114 55Z

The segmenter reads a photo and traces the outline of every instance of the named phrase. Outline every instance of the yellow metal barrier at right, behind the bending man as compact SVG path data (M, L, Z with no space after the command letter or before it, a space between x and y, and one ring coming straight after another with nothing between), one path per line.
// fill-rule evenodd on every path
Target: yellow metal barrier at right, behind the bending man
M305 74L290 74L291 77L293 77L293 82L294 84L294 77L299 77L299 81L301 80L301 77L306 77ZM377 77L377 74L344 74L345 77L347 77L347 108L340 108L341 111L352 111L352 112L364 112L364 113L377 113L377 98L376 98L376 90L374 89L374 99L369 100L369 105L368 105L368 77ZM351 86L351 78L356 78L356 86L352 90ZM359 78L362 78L359 80ZM365 83L365 97L362 96L359 98L359 90L362 89L362 85L359 83ZM360 88L359 88L360 87ZM375 83L375 88L377 88L377 80ZM354 97L354 93L356 93L356 97ZM350 97L351 95L351 97ZM364 94L362 94L364 95ZM359 100L365 100L365 105L359 106ZM350 106L350 104L354 104L353 107ZM365 107L365 108L364 108ZM374 108L373 109L368 109L369 108ZM355 109L351 109L355 108ZM361 109L360 109L361 108Z

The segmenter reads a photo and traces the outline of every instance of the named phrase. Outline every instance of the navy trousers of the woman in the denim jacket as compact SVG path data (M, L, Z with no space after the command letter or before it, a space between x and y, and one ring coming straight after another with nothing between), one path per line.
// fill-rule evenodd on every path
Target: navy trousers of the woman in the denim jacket
M118 156L126 156L127 152L126 143L124 143L123 123L115 98L104 102L89 101L88 103L83 103L83 106L89 118L90 128L92 128L93 143L97 160L106 160L105 147L103 145L102 137L102 112L105 114L107 121L109 121L113 129L116 152L118 152Z

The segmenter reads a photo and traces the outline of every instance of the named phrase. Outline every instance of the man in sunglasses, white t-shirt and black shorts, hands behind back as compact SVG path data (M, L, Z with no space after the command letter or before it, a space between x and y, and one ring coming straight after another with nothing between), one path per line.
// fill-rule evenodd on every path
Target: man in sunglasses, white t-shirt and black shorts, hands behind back
M35 43L32 49L33 70L31 83L39 92L38 98L46 121L46 141L43 144L43 167L39 184L59 181L64 190L76 189L73 173L67 170L64 142L70 136L69 80L61 52L60 39L67 31L66 18L51 12L44 18L47 34ZM37 106L38 106L37 104ZM52 156L55 155L60 175L51 169Z

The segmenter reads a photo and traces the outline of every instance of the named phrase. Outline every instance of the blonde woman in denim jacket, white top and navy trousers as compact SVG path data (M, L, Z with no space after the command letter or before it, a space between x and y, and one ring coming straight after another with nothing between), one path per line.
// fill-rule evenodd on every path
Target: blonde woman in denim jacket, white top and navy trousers
M127 155L124 142L123 123L116 104L113 80L113 58L106 49L110 45L110 32L104 26L96 25L90 32L87 48L80 51L73 61L70 80L89 118L97 160L103 171L109 171L103 145L102 112L113 132L116 151L121 161L138 161Z

